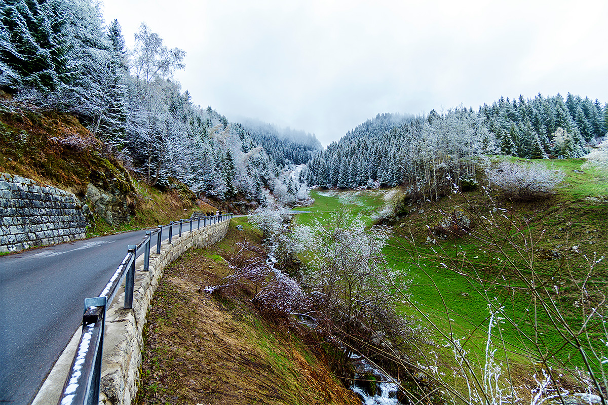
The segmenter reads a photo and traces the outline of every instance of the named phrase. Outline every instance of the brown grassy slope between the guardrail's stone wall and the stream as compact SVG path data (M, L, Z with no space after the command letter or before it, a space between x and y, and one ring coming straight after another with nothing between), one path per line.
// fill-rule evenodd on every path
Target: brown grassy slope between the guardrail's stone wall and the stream
M217 299L204 291L229 271L226 259L244 239L261 247L246 218L234 218L226 239L188 250L165 269L144 330L137 403L361 403L331 375L322 352L266 320L250 292Z

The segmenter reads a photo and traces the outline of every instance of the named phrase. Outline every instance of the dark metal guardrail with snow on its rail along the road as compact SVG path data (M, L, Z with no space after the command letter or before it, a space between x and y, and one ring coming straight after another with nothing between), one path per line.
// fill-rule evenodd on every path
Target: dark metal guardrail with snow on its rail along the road
M102 378L103 333L105 331L106 310L125 283L124 308L133 308L133 287L135 281L135 260L142 252L143 270L150 268L150 247L153 235L156 235L156 253L161 253L162 231L169 229L168 243L172 243L173 226L179 223L179 236L182 236L182 225L190 223L190 232L193 222L196 229L213 223L223 222L232 218L232 214L221 214L209 217L182 219L170 222L169 225L159 225L154 231L146 231L146 236L137 245L128 245L125 259L114 271L106 287L98 297L85 299L85 310L82 317L82 335L72 361L72 367L67 375L58 405L97 405L99 401L99 388Z

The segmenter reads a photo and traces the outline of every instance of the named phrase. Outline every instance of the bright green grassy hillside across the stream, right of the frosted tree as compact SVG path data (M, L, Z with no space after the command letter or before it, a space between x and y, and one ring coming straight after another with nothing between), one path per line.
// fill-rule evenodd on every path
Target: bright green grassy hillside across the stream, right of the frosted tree
M503 387L513 384L522 398L537 387L533 375L545 367L560 370L561 376L551 378L561 387L586 387L589 383L572 372L587 367L579 350L589 356L590 372L604 367L608 172L584 159L544 163L565 172L561 188L548 198L511 202L497 189L488 196L480 176L478 188L461 194L426 203L406 199L398 217L385 222L392 237L383 252L401 274L393 299L428 339L405 354L418 362L413 372L433 379L446 395L445 384L456 391L472 384L479 395L489 389L472 383L462 367L477 370L478 378L490 376L485 366L494 367L491 378ZM307 208L312 213L300 214L297 222L326 223L339 212L354 211L371 226L388 194L313 192L316 203ZM309 260L306 253L301 257ZM492 314L501 321L492 322ZM497 349L491 357L489 337Z

